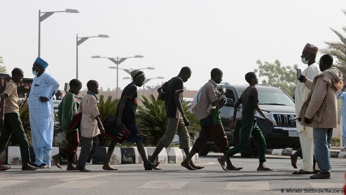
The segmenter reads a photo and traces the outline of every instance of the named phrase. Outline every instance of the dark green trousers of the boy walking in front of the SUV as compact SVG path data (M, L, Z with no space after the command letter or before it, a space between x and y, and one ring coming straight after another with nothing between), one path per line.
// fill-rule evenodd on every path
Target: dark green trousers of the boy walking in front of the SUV
M240 152L242 149L244 149L249 142L250 135L252 135L255 139L255 141L258 144L258 150L259 150L259 161L265 162L265 139L263 137L262 132L260 131L259 127L257 126L257 121L249 118L249 119L242 119L242 128L240 130L240 143L238 146L235 146L225 153L228 156L233 156L234 154Z

